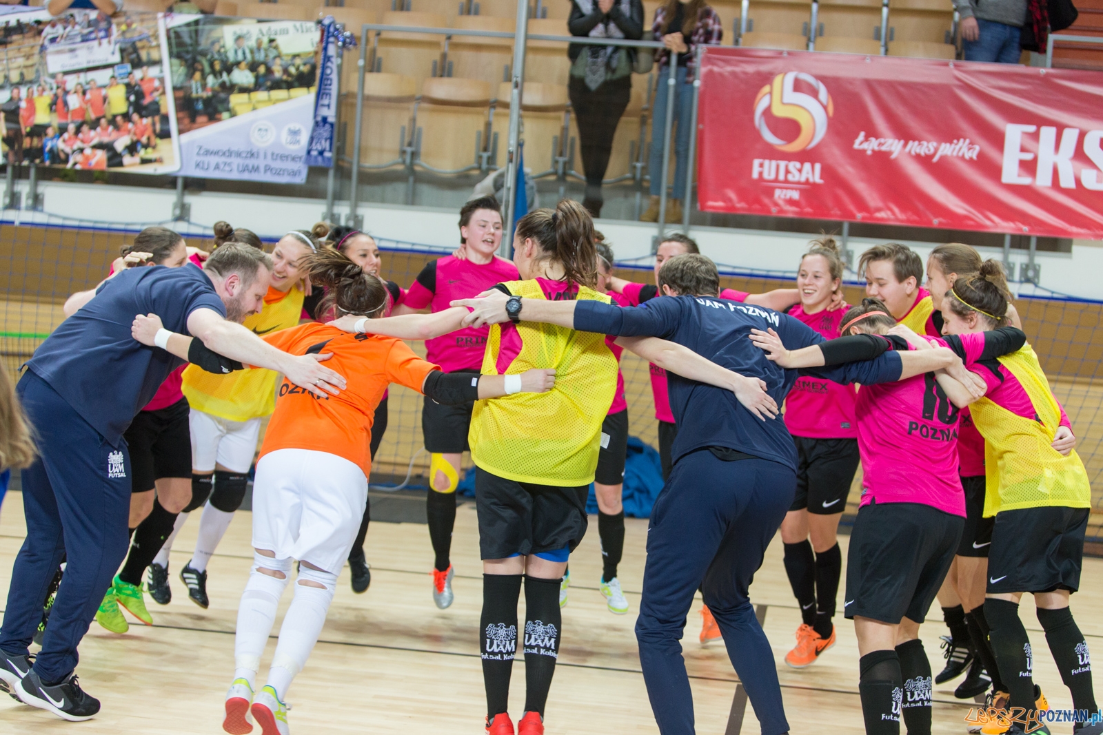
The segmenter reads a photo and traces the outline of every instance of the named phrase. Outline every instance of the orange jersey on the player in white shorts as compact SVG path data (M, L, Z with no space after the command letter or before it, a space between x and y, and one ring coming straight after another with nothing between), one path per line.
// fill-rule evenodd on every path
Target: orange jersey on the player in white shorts
M372 471L375 409L387 386L397 382L421 392L426 376L440 369L400 339L350 334L328 324L300 324L264 339L292 355L333 353L323 365L344 376L347 387L319 398L285 379L258 458L276 450L329 452L358 465L365 477Z

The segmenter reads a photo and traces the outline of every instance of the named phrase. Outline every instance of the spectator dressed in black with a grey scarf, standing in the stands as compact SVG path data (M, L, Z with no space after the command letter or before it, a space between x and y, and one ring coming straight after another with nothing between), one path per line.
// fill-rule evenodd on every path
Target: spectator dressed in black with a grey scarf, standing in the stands
M643 37L640 0L572 0L567 21L571 35L592 39ZM601 216L601 181L609 167L613 133L632 96L632 61L636 52L618 46L571 44L570 105L578 117L579 148L586 171L582 206Z

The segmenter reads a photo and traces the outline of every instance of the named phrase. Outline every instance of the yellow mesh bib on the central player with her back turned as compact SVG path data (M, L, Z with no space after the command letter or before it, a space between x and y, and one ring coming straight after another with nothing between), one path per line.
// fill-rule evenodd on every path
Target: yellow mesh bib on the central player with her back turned
M536 281L504 284L525 299L545 299ZM579 287L578 301L610 303L609 296ZM486 472L518 483L578 487L593 482L601 422L617 389L617 358L606 336L554 324L517 324L521 353L506 375L555 368L546 393L514 393L476 401L471 415L471 460ZM483 375L499 375L501 325L490 328Z

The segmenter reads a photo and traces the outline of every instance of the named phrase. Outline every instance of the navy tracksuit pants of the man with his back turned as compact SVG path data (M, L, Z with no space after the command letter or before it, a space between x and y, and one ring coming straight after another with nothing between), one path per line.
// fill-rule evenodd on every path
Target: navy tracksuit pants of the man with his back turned
M763 735L789 732L773 651L748 587L796 491L796 473L767 460L725 462L709 450L677 461L655 501L635 636L663 735L694 732L682 630L702 587Z

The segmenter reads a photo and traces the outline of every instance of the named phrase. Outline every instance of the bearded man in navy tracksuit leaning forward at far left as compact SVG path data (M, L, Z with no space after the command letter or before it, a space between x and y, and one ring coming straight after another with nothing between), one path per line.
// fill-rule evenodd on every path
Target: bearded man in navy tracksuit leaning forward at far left
M182 364L131 337L137 314L157 314L169 331L196 336L233 359L290 369L299 385L343 387L313 358L287 355L233 323L260 309L271 267L260 250L231 244L215 250L203 270L189 264L122 271L28 361L17 391L36 434L39 460L23 471L26 540L0 629L0 680L24 703L72 721L99 710L73 672L77 645L127 550L130 457L122 434ZM32 669L28 647L63 554L65 576Z

